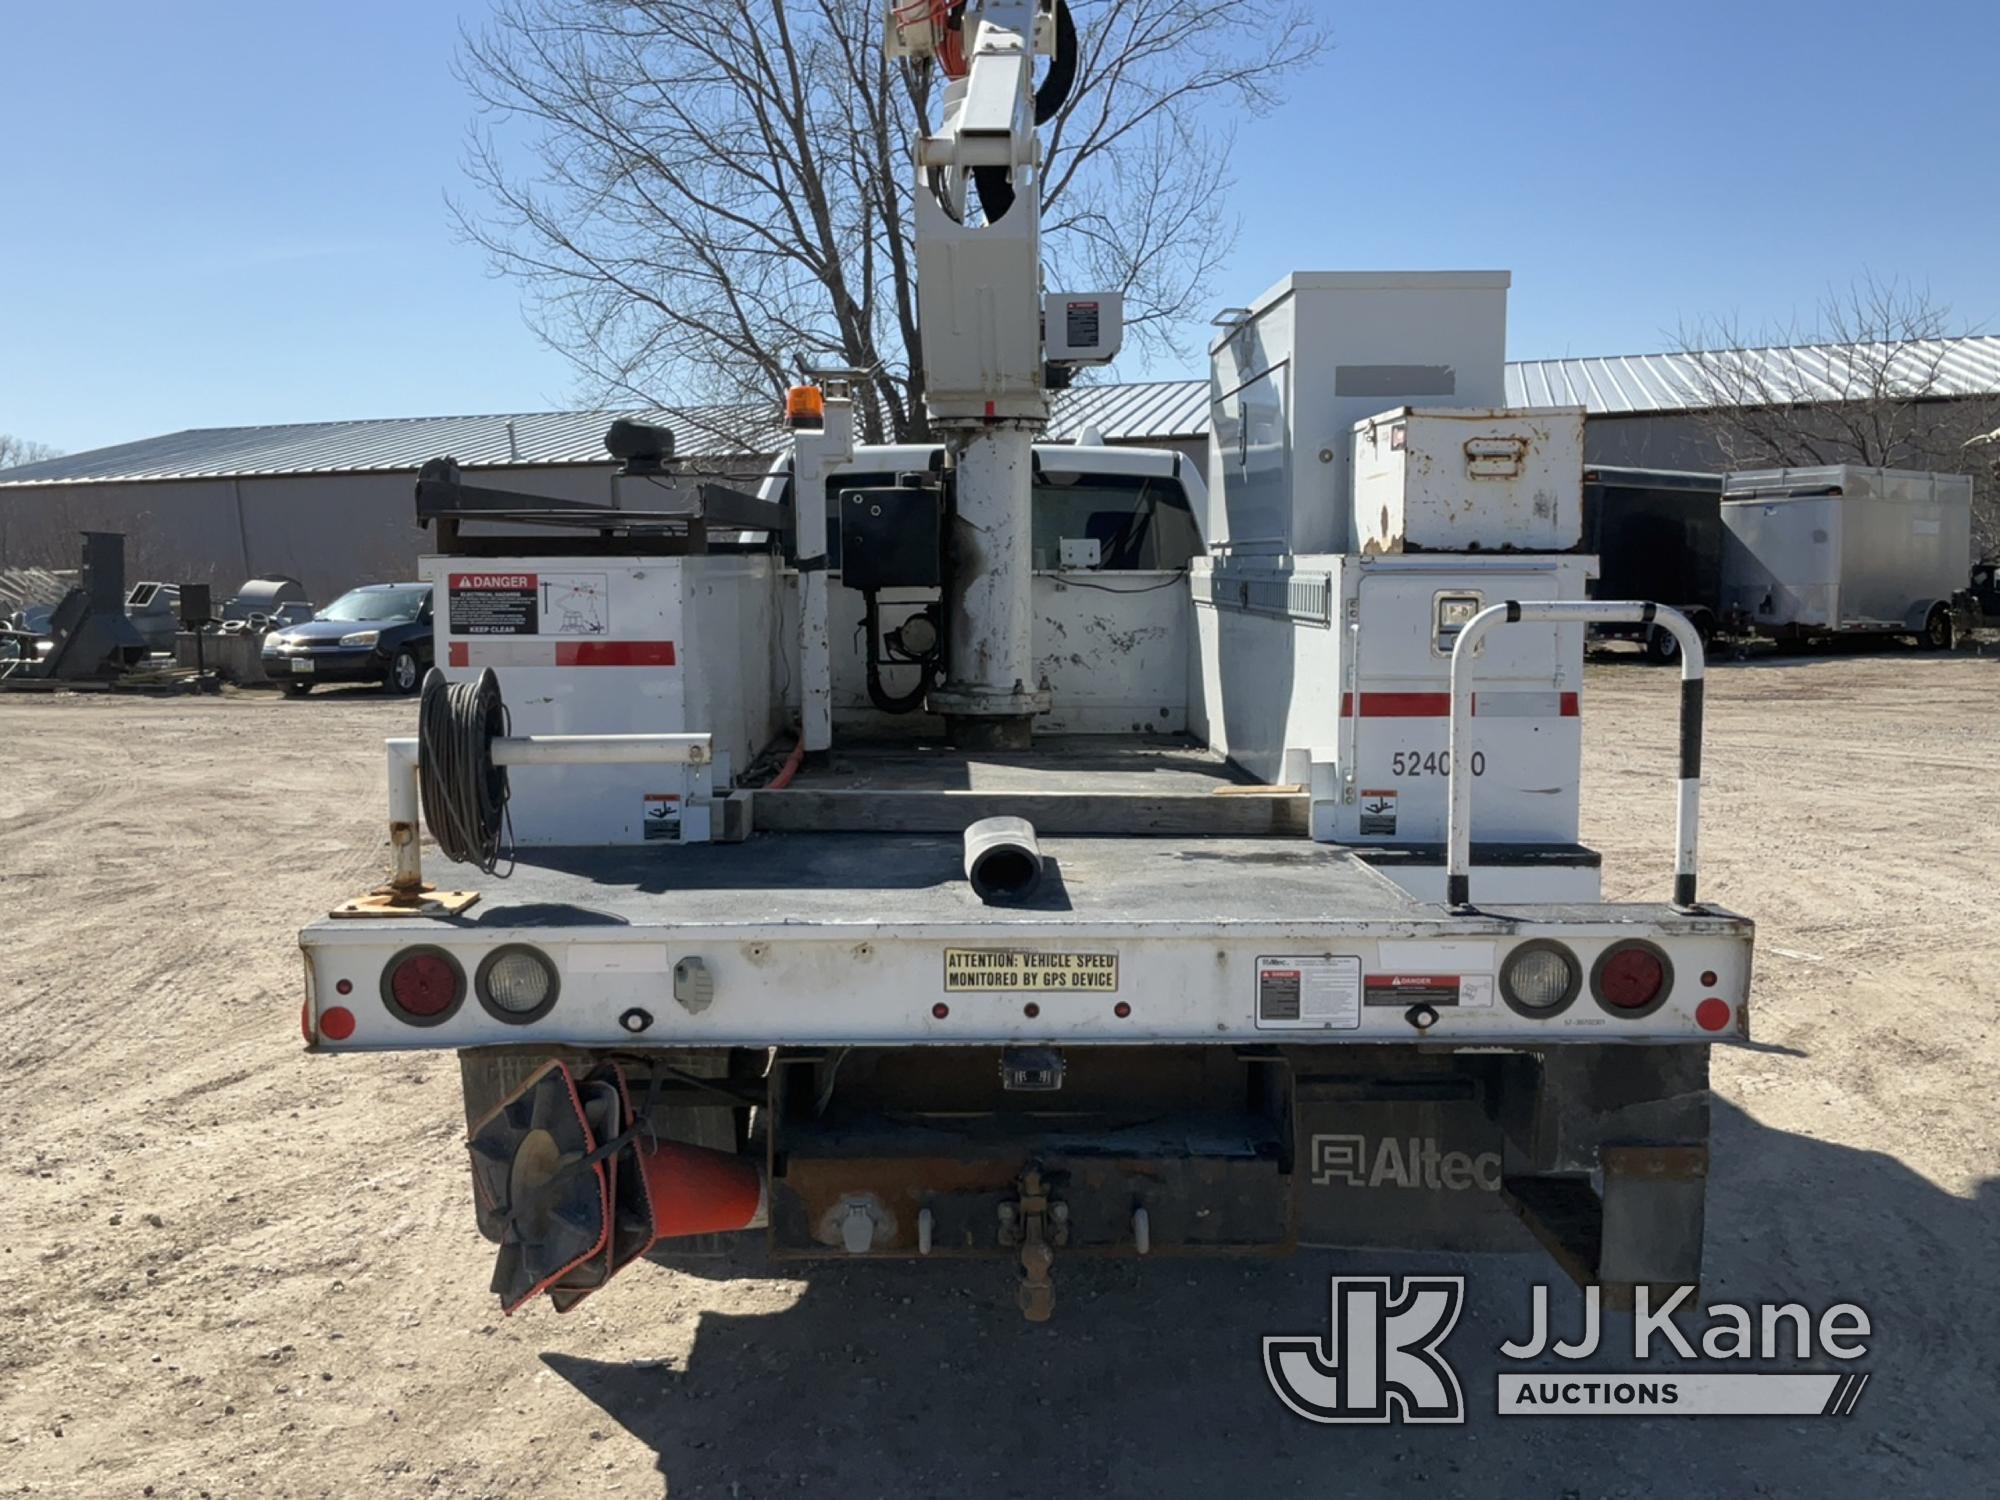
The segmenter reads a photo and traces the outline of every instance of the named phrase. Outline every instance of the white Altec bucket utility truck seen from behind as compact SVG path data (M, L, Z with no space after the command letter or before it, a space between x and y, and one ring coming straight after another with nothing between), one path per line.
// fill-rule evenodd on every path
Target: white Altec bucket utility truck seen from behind
M1702 650L1586 598L1580 414L1504 408L1508 276L1222 314L1206 478L1042 444L1120 342L1114 292L1042 286L1074 26L900 4L888 46L946 80L936 442L856 446L814 372L756 494L426 466L438 672L388 884L300 938L308 1048L460 1054L506 1310L740 1232L1002 1258L1030 1318L1066 1256L1532 1234L1612 1298L1698 1280L1752 956L1696 890ZM1592 622L1682 648L1678 726L1618 726L1678 756L1656 902L1578 842Z

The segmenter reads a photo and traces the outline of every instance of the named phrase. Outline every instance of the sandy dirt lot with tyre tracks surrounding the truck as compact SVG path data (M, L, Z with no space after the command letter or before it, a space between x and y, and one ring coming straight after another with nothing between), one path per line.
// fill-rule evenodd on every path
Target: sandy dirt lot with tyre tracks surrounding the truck
M1538 1258L1308 1254L484 1290L448 1054L308 1060L302 918L380 860L406 704L0 698L0 1492L1992 1494L2000 662L1722 668L1706 892L1760 922L1718 1052L1706 1298L1854 1300L1846 1420L1506 1420ZM1664 890L1672 678L1594 666L1584 836ZM1326 1274L1466 1270L1462 1428L1316 1428L1258 1338ZM1558 1308L1574 1310L1574 1298ZM1614 1338L1628 1338L1620 1320Z

